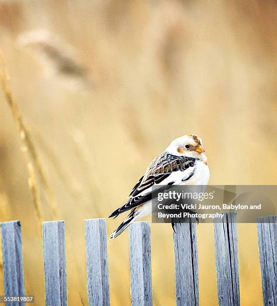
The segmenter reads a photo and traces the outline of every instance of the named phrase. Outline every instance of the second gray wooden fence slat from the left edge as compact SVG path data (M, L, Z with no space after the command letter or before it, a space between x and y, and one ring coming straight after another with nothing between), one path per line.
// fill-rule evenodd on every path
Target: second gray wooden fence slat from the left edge
M64 221L42 222L45 304L67 305Z

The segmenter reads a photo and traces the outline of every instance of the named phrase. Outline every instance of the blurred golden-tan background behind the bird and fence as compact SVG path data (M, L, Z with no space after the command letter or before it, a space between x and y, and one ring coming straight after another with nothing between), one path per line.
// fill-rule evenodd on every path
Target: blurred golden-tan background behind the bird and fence
M0 37L14 101L66 222L68 304L87 304L83 220L124 203L172 139L202 137L212 184L277 183L274 0L1 0ZM2 92L0 114L0 221L21 221L26 294L42 305L41 233ZM108 233L122 217L107 220ZM215 305L213 225L197 230L200 304ZM256 225L238 224L238 234L241 303L262 305ZM151 238L154 305L174 305L171 225L151 224ZM129 304L127 231L108 253L111 305Z

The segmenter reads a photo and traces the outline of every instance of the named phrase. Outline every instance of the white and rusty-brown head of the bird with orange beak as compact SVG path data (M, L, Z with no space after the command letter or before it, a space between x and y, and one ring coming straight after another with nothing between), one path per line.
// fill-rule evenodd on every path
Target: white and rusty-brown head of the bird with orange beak
M205 149L202 146L202 139L194 134L188 134L174 139L166 148L168 152L179 156L205 159Z

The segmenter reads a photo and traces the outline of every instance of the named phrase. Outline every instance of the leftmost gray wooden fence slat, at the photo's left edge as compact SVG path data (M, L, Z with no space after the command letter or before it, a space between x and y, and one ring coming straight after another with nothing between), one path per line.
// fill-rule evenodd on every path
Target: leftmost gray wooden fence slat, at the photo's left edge
M24 296L21 227L19 221L1 223L1 242L6 296ZM24 302L6 302L6 305L25 305Z

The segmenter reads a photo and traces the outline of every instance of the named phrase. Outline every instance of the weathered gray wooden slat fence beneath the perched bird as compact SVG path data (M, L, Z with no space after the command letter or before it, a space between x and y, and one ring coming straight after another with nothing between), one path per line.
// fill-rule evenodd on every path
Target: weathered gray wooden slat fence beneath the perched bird
M264 305L277 306L277 216L257 219ZM178 306L199 305L196 224L176 224L175 287ZM214 223L218 303L240 305L236 213ZM45 304L67 305L64 222L42 224ZM88 304L109 305L108 258L104 218L85 220ZM4 294L23 296L21 228L19 221L1 223ZM130 293L134 306L152 305L150 225L129 227ZM24 302L6 305L24 305Z

